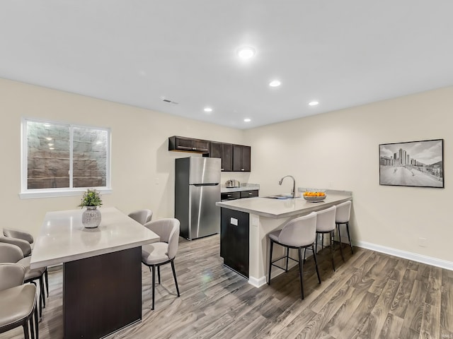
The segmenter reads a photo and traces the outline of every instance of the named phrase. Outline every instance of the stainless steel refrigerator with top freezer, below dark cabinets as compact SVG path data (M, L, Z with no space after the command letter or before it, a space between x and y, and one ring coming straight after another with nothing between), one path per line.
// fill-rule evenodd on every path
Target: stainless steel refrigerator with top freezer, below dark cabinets
M220 232L220 166L217 157L182 157L175 166L175 218L187 239Z

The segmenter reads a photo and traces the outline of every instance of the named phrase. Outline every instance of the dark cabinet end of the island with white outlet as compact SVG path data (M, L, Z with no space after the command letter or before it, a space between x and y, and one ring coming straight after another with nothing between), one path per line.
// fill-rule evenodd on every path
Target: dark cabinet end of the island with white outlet
M221 208L220 215L220 256L225 266L248 279L248 213Z

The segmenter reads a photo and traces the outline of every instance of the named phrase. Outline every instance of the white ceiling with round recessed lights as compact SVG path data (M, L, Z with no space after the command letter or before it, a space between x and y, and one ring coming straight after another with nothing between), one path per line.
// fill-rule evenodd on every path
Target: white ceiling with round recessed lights
M453 85L452 13L451 0L1 0L0 77L248 129Z

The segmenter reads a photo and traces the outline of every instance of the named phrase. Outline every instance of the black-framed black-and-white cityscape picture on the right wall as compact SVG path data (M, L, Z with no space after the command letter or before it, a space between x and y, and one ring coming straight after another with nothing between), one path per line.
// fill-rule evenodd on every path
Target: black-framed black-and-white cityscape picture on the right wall
M444 139L379 145L379 184L444 187Z

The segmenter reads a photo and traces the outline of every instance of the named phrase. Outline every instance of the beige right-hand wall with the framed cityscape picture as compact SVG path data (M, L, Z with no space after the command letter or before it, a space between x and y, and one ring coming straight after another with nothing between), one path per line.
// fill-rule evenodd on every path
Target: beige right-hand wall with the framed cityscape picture
M450 87L248 130L251 181L262 195L289 192L290 180L277 184L286 174L297 186L350 190L357 242L453 267L452 112ZM379 186L380 143L437 138L444 139L445 189Z

